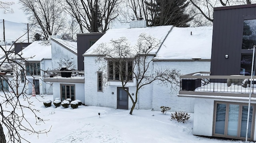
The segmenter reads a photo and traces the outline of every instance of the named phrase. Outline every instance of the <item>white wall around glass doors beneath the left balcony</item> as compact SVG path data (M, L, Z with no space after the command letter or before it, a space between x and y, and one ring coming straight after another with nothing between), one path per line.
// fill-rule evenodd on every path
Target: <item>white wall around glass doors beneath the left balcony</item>
M60 84L74 84L75 85L75 99L81 100L82 104L84 104L84 84L83 83L66 83L66 82L53 82L53 99L61 98L60 95Z

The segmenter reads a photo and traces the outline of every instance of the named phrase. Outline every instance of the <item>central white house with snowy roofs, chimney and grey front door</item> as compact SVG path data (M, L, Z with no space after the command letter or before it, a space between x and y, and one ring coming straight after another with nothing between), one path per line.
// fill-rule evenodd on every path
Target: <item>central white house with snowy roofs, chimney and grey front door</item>
M181 70L181 73L189 73L198 69L210 71L210 51L212 40L212 27L177 28L170 26L146 27L142 21L132 21L129 29L108 30L90 49L84 53L85 74L85 104L90 106L105 106L119 109L130 109L132 102L127 94L123 94L121 82L108 80L108 85L99 82L104 74L98 71L100 65L95 64L94 49L100 43L109 43L112 39L126 37L130 46L134 46L141 33L150 34L162 43L148 58L150 68L171 67ZM192 32L192 35L191 35ZM194 44L194 45L193 45ZM132 50L132 48L131 48ZM196 56L194 56L197 53ZM106 61L111 67L111 63ZM129 63L128 63L129 64ZM187 66L190 66L189 68ZM129 71L129 67L128 71ZM114 72L108 69L107 72ZM110 73L106 73L110 75ZM113 73L112 73L113 74ZM137 109L160 110L160 106L169 106L173 111L186 110L193 112L194 99L180 99L175 91L157 84L158 81L145 86L139 91ZM131 94L135 94L135 81L128 83L126 87ZM134 91L134 92L133 92ZM173 94L170 94L174 92Z

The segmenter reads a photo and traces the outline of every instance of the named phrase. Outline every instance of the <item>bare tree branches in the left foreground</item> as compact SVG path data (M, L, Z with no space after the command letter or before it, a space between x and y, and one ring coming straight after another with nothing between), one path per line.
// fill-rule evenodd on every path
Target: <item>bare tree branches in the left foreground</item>
M12 45L14 46L14 45ZM6 49L0 45L0 50L4 51L5 57L1 59L1 70L12 72L1 72L0 74L0 143L20 143L27 141L20 133L23 131L30 134L48 133L49 130L35 130L34 125L44 123L44 119L40 118L37 113L39 110L33 108L31 95L27 95L24 83L29 83L26 78L26 68L24 63L27 63L22 55L16 54L14 51ZM17 60L17 58L19 60ZM6 69L6 67L8 67ZM24 82L24 83L22 83ZM25 115L24 111L30 111L34 116L34 123L27 120L29 115ZM34 125L33 125L34 124ZM6 131L6 132L5 132Z

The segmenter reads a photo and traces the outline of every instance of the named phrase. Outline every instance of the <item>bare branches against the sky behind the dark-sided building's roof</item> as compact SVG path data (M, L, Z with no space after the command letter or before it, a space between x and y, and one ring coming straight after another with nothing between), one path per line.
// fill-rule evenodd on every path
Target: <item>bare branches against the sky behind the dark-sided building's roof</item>
M254 0L189 0L191 9L196 11L194 25L212 25L213 8L220 6L234 6L240 4L251 4Z

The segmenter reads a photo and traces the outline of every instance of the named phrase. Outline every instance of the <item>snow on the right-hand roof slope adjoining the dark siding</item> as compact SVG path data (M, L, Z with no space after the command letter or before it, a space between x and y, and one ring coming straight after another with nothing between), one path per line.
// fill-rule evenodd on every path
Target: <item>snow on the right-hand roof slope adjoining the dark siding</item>
M211 52L212 27L174 27L154 59L211 59Z

